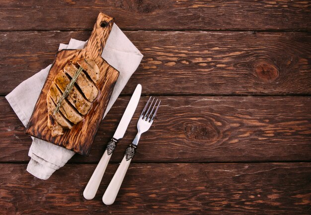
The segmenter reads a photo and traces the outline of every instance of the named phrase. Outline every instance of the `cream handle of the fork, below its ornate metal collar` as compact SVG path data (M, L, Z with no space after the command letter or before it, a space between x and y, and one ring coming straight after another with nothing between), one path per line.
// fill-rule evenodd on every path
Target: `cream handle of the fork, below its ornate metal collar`
M112 205L114 203L131 160L132 159L126 160L126 156L123 157L116 173L111 179L111 182L102 197L102 201L105 205Z

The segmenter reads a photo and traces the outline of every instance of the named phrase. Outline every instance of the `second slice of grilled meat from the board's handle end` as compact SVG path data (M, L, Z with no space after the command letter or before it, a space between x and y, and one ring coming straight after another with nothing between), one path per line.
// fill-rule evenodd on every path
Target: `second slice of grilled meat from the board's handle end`
M77 72L77 67L72 63L67 64L64 68L64 71L68 73L71 77ZM77 78L77 84L85 95L85 98L90 102L93 102L98 95L98 89L94 83L87 78L84 72L81 72Z

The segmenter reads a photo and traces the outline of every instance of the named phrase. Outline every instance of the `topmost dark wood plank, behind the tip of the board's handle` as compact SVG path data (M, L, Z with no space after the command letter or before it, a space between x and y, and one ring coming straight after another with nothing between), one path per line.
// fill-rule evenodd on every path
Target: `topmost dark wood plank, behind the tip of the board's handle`
M307 0L1 0L0 30L92 29L99 12L131 30L311 29Z

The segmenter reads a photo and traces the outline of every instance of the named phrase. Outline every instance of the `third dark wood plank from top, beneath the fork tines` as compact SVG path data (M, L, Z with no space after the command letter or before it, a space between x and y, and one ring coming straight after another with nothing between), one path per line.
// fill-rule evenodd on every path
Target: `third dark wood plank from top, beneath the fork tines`
M90 155L71 162L98 162L129 96L119 97L99 130ZM310 161L311 97L158 96L157 119L139 143L133 162ZM124 139L111 157L120 162L136 135L142 97ZM0 99L0 161L25 162L31 139Z

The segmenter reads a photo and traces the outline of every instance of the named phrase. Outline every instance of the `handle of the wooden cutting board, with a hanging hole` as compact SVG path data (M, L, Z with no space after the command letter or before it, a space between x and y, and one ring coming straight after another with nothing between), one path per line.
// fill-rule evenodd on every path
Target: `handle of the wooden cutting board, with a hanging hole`
M101 56L113 25L113 18L99 13L85 50L89 56Z

